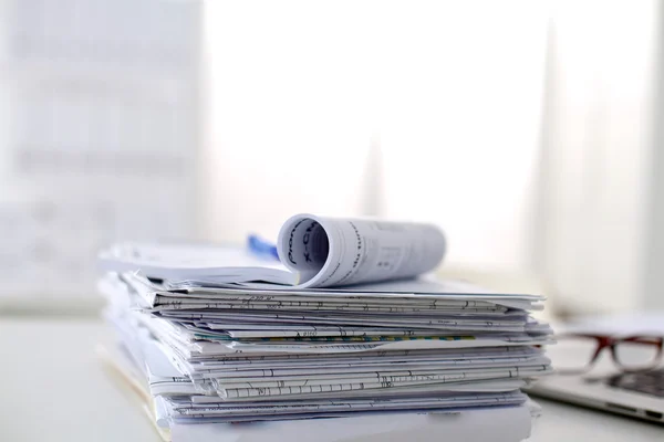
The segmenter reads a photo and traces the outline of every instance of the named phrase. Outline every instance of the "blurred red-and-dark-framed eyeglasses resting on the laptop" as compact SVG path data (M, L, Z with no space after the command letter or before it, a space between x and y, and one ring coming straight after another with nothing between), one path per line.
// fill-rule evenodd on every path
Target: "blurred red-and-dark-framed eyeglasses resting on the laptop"
M559 373L583 373L596 362L604 349L611 350L613 362L621 371L642 371L656 367L662 360L662 336L612 337L592 334L556 336L557 344L547 348L553 368Z

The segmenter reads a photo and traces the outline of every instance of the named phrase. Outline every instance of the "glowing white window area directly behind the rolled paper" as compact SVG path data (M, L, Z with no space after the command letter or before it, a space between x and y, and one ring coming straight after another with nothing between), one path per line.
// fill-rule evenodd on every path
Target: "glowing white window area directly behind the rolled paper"
M439 223L453 263L527 264L542 2L206 7L210 235L369 213Z

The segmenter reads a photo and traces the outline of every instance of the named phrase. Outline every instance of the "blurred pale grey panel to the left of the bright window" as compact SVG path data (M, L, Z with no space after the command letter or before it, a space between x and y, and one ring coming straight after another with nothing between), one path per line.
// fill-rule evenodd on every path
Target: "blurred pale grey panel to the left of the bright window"
M100 248L196 236L200 9L0 1L0 313L90 309Z

